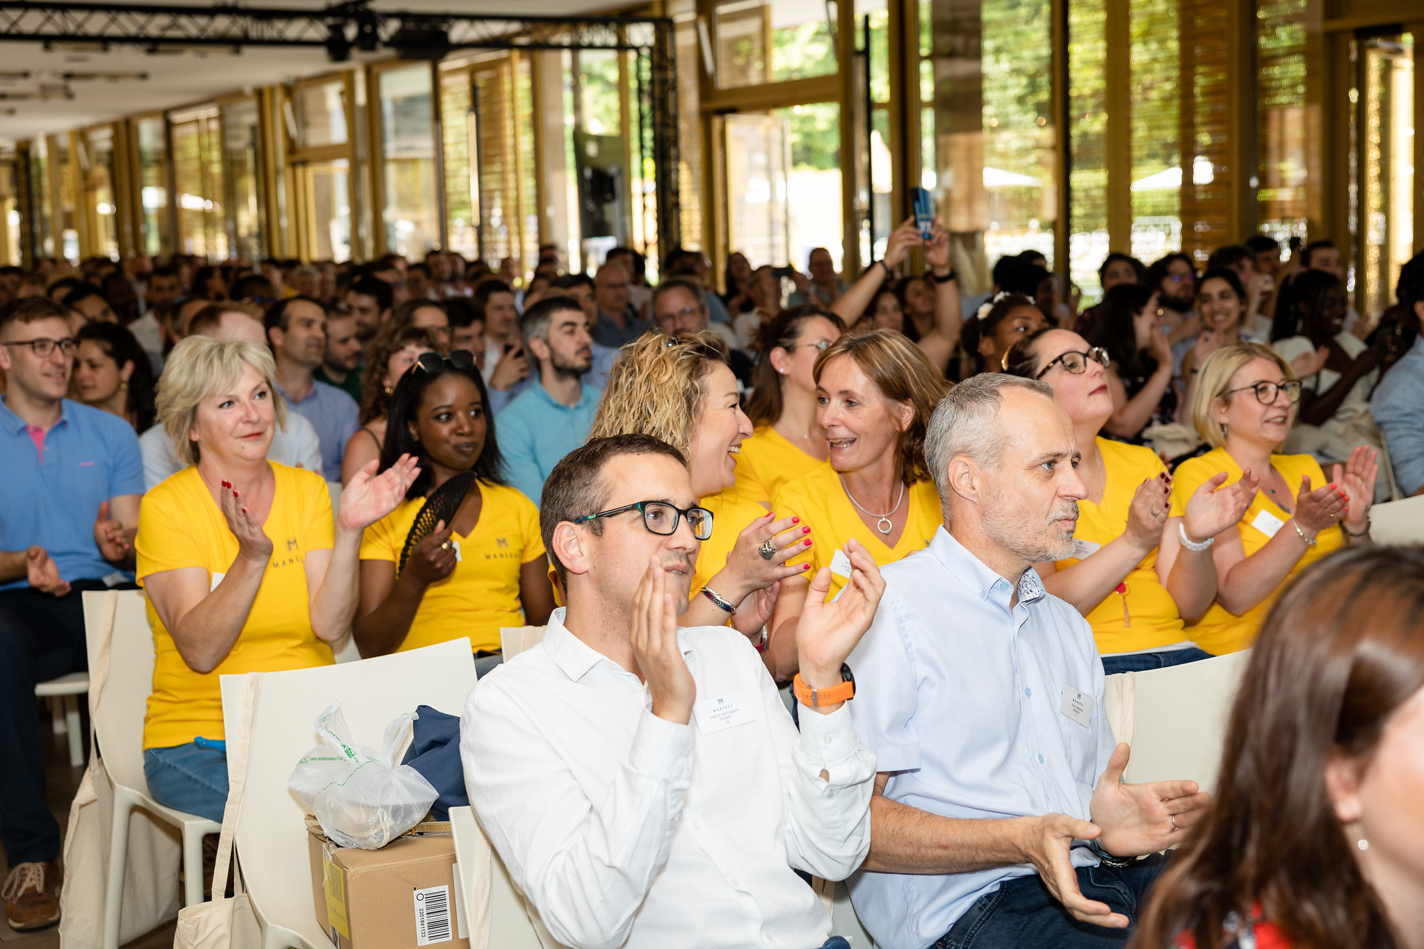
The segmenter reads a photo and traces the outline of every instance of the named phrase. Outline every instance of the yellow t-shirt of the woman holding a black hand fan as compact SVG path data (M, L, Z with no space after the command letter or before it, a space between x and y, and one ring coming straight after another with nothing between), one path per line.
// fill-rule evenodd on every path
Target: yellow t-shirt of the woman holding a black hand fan
M538 508L515 488L480 481L480 519L459 544L454 573L426 588L410 632L396 652L470 637L476 650L500 647L501 626L523 626L520 566L544 556ZM366 528L360 559L400 563L406 535L424 498L412 498Z

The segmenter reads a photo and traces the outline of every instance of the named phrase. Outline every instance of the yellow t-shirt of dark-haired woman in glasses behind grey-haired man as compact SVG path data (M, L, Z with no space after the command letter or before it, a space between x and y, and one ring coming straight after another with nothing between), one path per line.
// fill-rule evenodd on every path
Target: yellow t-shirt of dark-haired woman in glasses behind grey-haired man
M1078 502L1078 526L1072 535L1078 552L1088 556L1091 553L1082 551L1084 544L1095 545L1091 548L1095 551L1126 532L1128 509L1132 507L1132 495L1136 494L1138 485L1166 471L1166 465L1151 448L1101 437L1096 441L1108 475L1102 504L1094 504L1087 498ZM1182 615L1176 609L1176 600L1158 580L1156 553L1153 548L1132 568L1124 580L1126 593L1108 593L1106 599L1088 613L1087 620L1092 626L1094 639L1098 640L1099 653L1105 656L1135 653L1189 639L1182 632ZM1067 571L1079 559L1072 556L1058 561L1054 566ZM1124 600L1128 605L1131 626L1122 619Z

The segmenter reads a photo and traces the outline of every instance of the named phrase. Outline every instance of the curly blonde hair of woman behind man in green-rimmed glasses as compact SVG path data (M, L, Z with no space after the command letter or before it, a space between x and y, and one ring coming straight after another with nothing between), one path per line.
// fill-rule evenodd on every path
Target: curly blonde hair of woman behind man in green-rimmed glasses
M652 435L684 455L702 408L702 377L726 366L726 344L715 334L645 333L619 350L588 440Z

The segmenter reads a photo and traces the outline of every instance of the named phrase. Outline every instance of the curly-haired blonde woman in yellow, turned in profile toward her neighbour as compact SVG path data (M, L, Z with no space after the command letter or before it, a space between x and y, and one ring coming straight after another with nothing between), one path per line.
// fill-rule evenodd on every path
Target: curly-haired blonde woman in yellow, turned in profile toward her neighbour
M624 346L588 437L624 434L652 435L681 451L698 504L712 512L712 536L698 551L691 606L679 623L731 622L765 652L780 580L806 571L800 558L813 549L812 532L797 512L768 514L732 491L752 423L722 340L706 332L651 333Z

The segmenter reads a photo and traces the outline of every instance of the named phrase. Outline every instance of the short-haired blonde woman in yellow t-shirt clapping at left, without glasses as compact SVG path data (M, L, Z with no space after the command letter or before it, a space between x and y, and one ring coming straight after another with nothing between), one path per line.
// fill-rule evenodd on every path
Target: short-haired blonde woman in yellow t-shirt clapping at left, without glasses
M362 531L419 471L369 464L335 522L319 472L266 460L286 404L265 346L189 336L158 381L158 417L187 468L138 514L138 582L154 627L144 774L159 804L222 820L228 795L218 676L333 662L356 612Z

